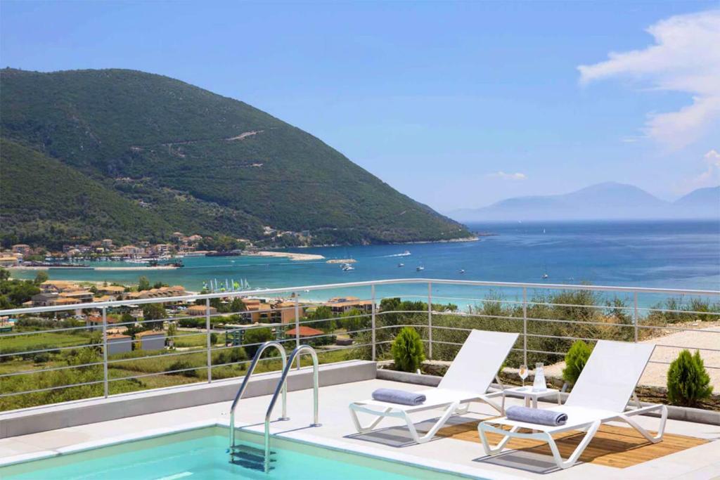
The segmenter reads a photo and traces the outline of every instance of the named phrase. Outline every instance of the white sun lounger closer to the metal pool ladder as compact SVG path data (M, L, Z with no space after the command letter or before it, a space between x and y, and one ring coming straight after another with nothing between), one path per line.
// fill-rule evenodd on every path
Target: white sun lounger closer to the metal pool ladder
M377 427L384 417L396 417L405 420L415 442L425 443L433 438L451 415L467 413L471 402L486 402L503 415L503 407L490 400L501 397L503 392L486 392L517 338L517 333L472 330L437 388L417 392L426 396L423 404L402 405L372 399L351 403L350 415L357 431L368 433ZM420 437L410 420L410 414L431 409L443 409L443 415L428 433ZM358 412L377 418L363 426L360 424Z

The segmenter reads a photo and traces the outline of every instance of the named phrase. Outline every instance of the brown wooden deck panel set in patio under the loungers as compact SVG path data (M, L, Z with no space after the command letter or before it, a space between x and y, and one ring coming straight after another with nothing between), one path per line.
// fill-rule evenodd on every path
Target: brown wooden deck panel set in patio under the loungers
M480 443L477 423L477 421L472 421L444 427L437 435ZM585 433L572 431L554 436L557 448L563 458L570 456L577 444L582 440L583 435ZM491 443L498 443L500 439L500 435L496 433L487 434L487 440L490 440ZM697 445L703 445L704 443L708 443L708 440L671 433L665 433L660 443L650 443L632 428L601 425L600 430L595 434L595 438L580 456L580 461L625 468L664 457L670 455L670 453L693 448ZM505 448L552 456L547 443L538 440L513 438L505 445Z

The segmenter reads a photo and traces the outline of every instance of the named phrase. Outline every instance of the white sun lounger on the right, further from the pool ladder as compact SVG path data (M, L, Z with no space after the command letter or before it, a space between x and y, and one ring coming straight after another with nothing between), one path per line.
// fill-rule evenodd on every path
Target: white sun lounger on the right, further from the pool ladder
M565 404L562 407L549 409L553 412L567 414L567 422L558 427L550 427L535 423L515 422L506 417L485 420L477 425L485 453L487 455L500 453L510 438L544 440L549 444L557 466L569 468L575 464L577 458L580 458L583 450L598 431L600 424L612 420L626 422L649 442L660 442L665 431L665 420L667 420L665 405L639 407L638 402L638 408L625 411L631 395L634 397L635 386L647 366L653 349L654 345L644 343L598 340ZM660 412L660 427L657 435L652 436L631 417L654 411ZM503 430L500 426L510 427L510 430ZM520 433L518 430L521 428L533 431L532 433ZM563 461L552 435L570 430L585 430L585 437L582 438L580 445L577 445L567 461ZM493 447L487 441L485 435L487 432L504 435L503 440Z

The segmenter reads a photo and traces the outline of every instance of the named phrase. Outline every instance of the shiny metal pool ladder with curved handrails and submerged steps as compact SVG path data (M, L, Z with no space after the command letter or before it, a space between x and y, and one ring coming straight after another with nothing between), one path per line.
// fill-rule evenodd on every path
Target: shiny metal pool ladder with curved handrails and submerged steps
M263 352L271 347L277 348L280 351L282 358L282 375L280 376L275 388L275 393L265 413L265 448L261 450L260 448L235 443L235 408L238 406L240 398L243 397L243 393L248 386L248 381L250 381L250 377L253 371L255 371L255 367L258 361L260 361ZM313 422L310 424L310 427L320 427L320 422L318 421L318 354L315 353L315 349L310 345L298 345L297 348L292 350L288 358L281 343L276 341L263 343L255 353L250 368L248 368L248 373L246 373L245 379L243 380L243 384L240 385L238 393L235 395L233 405L230 407L230 447L228 448L230 463L252 468L253 470L262 470L265 473L268 473L272 469L271 463L274 461L272 458L274 452L270 450L270 415L272 415L277 397L282 394L282 417L279 417L278 420L290 420L287 416L287 374L290 373L294 359L306 350L307 353L310 353L310 356L312 356Z

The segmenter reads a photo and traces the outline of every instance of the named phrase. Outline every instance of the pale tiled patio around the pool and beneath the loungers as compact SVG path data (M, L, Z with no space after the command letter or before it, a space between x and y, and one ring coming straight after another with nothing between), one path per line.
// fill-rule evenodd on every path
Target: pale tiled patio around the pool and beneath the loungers
M405 430L400 421L387 419L379 425L377 433L356 435L348 413L348 404L354 400L369 398L375 389L387 387L406 390L425 389L426 386L397 383L386 380L356 381L320 388L321 427L308 427L312 421L312 389L288 393L287 422L273 422L273 434L330 445L346 450L393 458L421 466L440 468L465 476L508 479L711 479L720 475L720 427L678 420L668 420L666 433L688 435L712 440L709 443L678 453L640 463L627 468L612 468L595 463L578 463L564 471L557 471L552 458L527 452L506 453L500 458L487 458L479 443L453 438L437 438L422 445L407 444ZM509 404L520 400L508 399ZM237 425L261 432L269 396L243 399L236 413ZM542 406L542 404L541 404ZM178 430L199 425L228 425L230 402L220 402L168 410L149 415L138 415L31 435L21 435L0 440L0 458L4 461L32 458L43 452L47 454L68 453L77 449L114 443L118 440L138 438L163 431ZM279 404L273 417L280 413ZM462 419L454 422L479 419L493 415L494 410L486 404L474 403ZM433 412L417 417L418 422L435 417ZM657 419L639 417L639 423L654 430ZM622 424L618 424L622 425ZM421 428L421 427L420 427ZM420 429L419 428L419 429ZM302 478L299 476L298 478Z

